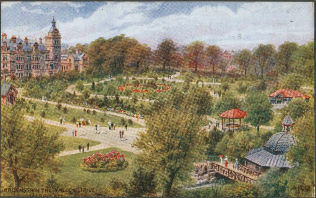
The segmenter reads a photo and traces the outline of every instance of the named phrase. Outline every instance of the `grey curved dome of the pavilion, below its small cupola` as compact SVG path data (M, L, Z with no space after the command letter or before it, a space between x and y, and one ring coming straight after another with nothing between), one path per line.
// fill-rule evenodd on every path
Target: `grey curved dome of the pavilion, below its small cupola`
M284 154L289 151L289 147L296 145L296 141L291 133L276 133L265 143L264 149L272 154Z

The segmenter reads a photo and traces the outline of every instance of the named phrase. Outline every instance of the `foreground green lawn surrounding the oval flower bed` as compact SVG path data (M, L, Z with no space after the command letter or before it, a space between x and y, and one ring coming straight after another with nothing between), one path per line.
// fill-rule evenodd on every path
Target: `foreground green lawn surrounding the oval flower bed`
M113 150L125 155L125 160L129 163L126 169L116 172L92 173L84 171L80 168L82 158L88 157L89 155L96 152L104 154ZM94 189L101 189L104 186L108 186L112 178L116 178L122 182L129 182L129 180L132 178L133 171L136 170L135 164L133 163L135 157L135 153L127 152L118 148L107 148L98 151L61 156L58 157L58 159L64 162L64 166L62 168L62 173L57 176L57 181L58 183L74 184L85 188L91 186Z

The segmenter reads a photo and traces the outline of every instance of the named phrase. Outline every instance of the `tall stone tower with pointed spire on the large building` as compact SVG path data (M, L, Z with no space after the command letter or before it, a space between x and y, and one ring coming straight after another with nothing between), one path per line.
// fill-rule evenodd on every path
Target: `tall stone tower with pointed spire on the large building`
M48 75L52 75L61 70L61 35L59 30L56 28L56 21L53 17L52 27L48 31L48 34L45 35L45 46L49 51L48 59L48 68L45 68L48 71Z

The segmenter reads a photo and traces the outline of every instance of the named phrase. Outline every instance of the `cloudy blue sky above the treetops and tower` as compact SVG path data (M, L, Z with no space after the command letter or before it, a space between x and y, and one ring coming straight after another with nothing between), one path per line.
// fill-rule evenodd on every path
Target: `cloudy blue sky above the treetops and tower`
M62 43L116 35L152 49L165 38L178 45L204 41L224 50L300 45L314 38L312 2L1 2L1 33L44 38L53 16Z

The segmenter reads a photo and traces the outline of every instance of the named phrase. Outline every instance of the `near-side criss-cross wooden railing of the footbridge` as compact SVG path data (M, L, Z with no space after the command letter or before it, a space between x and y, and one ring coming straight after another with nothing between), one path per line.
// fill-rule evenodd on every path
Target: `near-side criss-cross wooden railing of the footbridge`
M229 179L232 179L234 181L242 181L246 183L254 183L257 181L256 179L253 179L244 174L235 172L234 170L230 170L220 164L212 163L212 167L216 173L223 175L225 177L228 177Z

